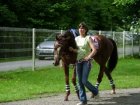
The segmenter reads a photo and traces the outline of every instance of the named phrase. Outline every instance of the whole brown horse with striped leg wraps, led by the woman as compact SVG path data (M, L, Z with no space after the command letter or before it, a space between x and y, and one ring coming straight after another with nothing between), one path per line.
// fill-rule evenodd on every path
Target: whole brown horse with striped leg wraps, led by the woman
M69 65L74 65L72 83L75 86L77 96L79 98L79 90L76 84L76 67L75 63L77 62L77 53L69 51L69 47L77 49L75 42L74 32L67 30L63 34L56 36L56 41L54 44L54 65L59 65L59 61L62 60L62 66L65 73L65 83L66 83L66 96L65 101L68 101L68 96L70 95L70 86L69 86ZM91 35L93 39L94 47L97 52L92 57L100 66L99 74L97 77L96 88L99 88L99 84L102 82L103 74L105 72L106 76L110 81L112 87L112 93L115 94L115 84L111 76L112 71L117 65L118 53L117 45L115 41L111 38L106 38L104 35ZM92 95L91 97L94 97Z

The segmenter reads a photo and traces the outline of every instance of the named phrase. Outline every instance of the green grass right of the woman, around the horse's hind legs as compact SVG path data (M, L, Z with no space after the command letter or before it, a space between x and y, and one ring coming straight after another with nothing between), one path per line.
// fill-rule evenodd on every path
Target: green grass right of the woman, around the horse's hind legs
M112 72L112 77L116 84L116 88L120 89L120 88L140 87L139 68L140 68L140 59L134 59L134 58L119 59L117 67ZM96 76L97 76L97 72L94 70L90 76L90 79L91 77L94 77L93 78L94 84L96 83ZM109 86L109 81L106 75L104 75L102 83L100 84L100 90L107 90L107 89L111 89L111 87Z

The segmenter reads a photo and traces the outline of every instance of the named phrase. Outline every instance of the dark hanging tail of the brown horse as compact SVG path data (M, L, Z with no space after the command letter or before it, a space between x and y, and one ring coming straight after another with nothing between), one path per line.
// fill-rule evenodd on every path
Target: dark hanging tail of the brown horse
M111 73L113 71L113 69L116 67L117 62L118 62L118 51L117 51L116 42L110 38L109 38L109 40L113 44L113 51L112 51L112 54L111 54L111 56L108 60L108 64L107 64L107 68L108 68L109 72Z

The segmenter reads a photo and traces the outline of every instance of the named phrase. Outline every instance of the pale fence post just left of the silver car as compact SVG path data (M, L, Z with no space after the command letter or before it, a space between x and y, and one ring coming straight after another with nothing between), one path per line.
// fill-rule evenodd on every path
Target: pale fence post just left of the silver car
M35 70L35 28L32 29L32 71Z

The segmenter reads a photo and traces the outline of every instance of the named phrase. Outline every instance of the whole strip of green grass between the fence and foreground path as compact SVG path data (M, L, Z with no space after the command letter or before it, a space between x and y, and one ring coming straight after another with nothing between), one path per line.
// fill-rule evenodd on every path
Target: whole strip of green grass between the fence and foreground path
M112 72L116 88L140 87L140 59L119 59L116 69ZM89 81L96 83L99 66L93 62ZM70 69L70 77L72 76ZM71 83L71 91L74 87ZM107 77L104 75L100 90L111 89ZM10 72L0 72L0 102L30 99L50 96L65 92L64 72L60 67L19 69Z

